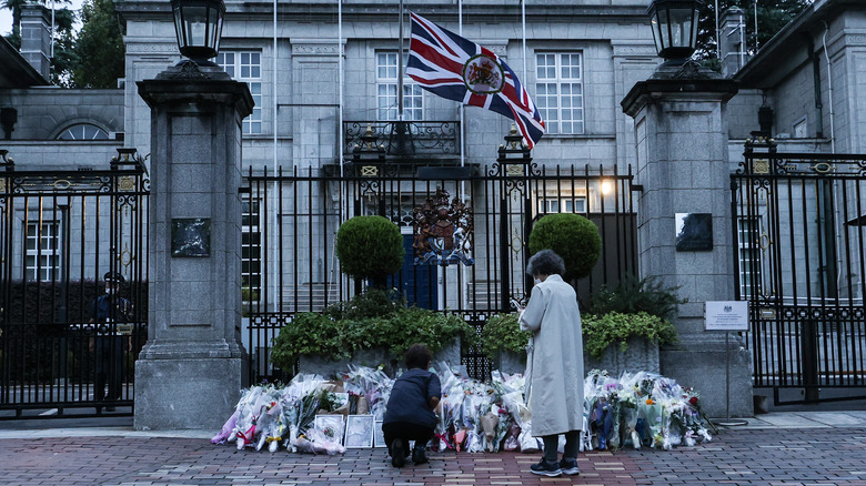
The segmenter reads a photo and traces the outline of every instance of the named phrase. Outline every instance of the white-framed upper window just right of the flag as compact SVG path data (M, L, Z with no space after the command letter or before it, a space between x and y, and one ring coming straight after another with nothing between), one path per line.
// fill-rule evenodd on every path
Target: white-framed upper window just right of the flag
M535 105L547 133L583 133L582 54L541 53L535 57Z

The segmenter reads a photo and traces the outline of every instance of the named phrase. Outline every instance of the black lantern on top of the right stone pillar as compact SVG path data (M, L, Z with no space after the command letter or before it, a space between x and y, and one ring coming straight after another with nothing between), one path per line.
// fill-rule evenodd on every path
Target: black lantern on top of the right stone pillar
M684 64L695 52L702 0L653 0L646 12L653 27L658 57L665 64Z

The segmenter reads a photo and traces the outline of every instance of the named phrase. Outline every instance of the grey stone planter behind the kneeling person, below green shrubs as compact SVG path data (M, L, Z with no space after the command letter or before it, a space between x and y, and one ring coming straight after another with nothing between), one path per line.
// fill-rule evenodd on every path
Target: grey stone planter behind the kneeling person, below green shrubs
M439 353L433 353L433 365L442 361L451 365L460 364L460 338L454 340L450 345L440 350ZM330 357L315 354L302 354L299 358L298 372L313 373L325 378L332 378L340 373L349 371L350 364L373 368L384 365L384 371L389 376L394 376L397 368L405 368L402 358L392 363L392 355L384 347L369 347L356 350L351 357L345 360L331 360Z

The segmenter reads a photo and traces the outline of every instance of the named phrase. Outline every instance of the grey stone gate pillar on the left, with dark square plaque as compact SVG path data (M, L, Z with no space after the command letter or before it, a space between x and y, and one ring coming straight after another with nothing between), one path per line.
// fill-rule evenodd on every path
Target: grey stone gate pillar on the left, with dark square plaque
M245 83L194 62L140 81L151 108L150 314L137 429L219 429L239 399Z

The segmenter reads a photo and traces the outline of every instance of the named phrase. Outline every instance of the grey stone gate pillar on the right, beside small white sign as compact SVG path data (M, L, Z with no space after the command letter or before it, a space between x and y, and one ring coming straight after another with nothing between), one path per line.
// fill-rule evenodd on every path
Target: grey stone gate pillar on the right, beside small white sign
M694 386L704 411L724 417L725 335L704 332L704 303L733 300L737 285L725 119L725 104L737 85L718 78L693 63L662 67L652 79L636 83L622 105L634 118L636 182L643 186L641 274L679 286L678 295L688 298L674 318L679 342L662 350L661 373ZM677 214L687 213L701 215L689 216L689 222L712 223L711 231L698 233L703 240L677 237ZM727 353L731 416L751 416L751 355L736 338Z

